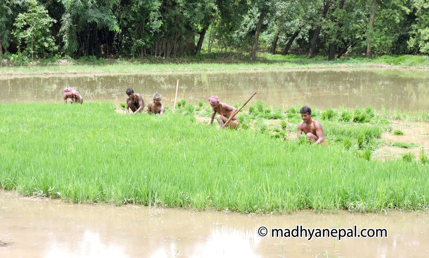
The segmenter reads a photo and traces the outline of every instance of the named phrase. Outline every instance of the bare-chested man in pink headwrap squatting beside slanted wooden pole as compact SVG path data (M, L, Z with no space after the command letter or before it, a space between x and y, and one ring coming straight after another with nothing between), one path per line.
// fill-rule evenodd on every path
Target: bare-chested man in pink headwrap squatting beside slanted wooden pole
M215 114L218 113L219 115L216 117L216 120L218 120L218 123L222 127L225 122L228 121L230 116L237 111L235 107L230 106L227 103L219 102L218 96L209 97L208 102L210 102L210 105L213 108L208 124L213 124ZM231 121L227 125L225 125L225 127L237 128L239 127L239 125L239 118L235 115L233 119L231 119Z

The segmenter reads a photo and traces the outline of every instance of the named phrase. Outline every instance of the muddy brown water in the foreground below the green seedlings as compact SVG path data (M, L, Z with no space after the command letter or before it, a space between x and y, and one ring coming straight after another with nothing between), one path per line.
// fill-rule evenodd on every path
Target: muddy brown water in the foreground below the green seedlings
M385 228L387 237L272 238L257 229ZM428 257L429 213L250 216L75 204L0 191L0 257Z

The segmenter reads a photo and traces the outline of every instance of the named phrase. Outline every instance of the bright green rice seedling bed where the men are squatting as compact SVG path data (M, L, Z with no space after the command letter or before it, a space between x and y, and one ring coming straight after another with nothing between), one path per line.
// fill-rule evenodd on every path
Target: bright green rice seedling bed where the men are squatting
M193 114L209 113L202 102L180 105L175 115L150 116L117 114L111 103L0 104L0 186L73 202L238 212L429 205L426 154L370 159L389 130L372 108L315 110L328 142L321 147L282 140L299 107L249 105L233 131L196 122Z

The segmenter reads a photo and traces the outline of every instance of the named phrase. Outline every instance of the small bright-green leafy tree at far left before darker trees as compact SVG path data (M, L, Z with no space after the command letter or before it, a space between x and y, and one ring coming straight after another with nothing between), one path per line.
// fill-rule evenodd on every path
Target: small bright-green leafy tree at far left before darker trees
M58 49L50 30L55 20L49 17L48 11L36 0L26 0L25 4L27 12L16 17L13 34L18 39L19 49L24 48L25 54L30 54L32 59L35 54L45 57Z

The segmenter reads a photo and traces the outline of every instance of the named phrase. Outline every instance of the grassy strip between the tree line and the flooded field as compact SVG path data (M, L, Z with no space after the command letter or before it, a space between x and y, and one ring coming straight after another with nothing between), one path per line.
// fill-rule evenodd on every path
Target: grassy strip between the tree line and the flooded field
M3 75L50 75L88 73L147 73L172 71L227 71L227 70L272 70L307 68L350 68L350 67L414 67L429 68L428 56L384 55L376 58L349 57L328 61L326 57L308 58L305 55L267 55L256 62L248 59L195 59L195 58L147 58L111 59L105 62L82 60L35 61L33 64L16 66L6 58L0 59L0 73Z

